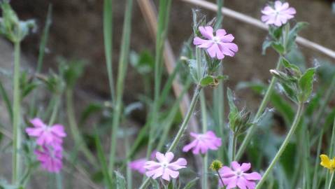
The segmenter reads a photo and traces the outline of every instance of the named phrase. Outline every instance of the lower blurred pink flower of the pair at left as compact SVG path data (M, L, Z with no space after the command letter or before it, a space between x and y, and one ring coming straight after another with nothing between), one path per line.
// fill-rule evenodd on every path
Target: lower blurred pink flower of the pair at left
M37 160L41 162L42 168L48 172L57 173L62 169L62 149L43 146L41 150L36 150L35 154Z

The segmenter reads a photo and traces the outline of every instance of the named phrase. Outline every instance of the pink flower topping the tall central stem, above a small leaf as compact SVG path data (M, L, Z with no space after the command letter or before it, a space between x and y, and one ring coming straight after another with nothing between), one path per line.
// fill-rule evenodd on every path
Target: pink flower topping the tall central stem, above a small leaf
M234 40L234 36L227 34L224 29L218 29L213 35L213 27L199 27L199 31L206 39L195 37L193 44L199 48L206 48L208 55L212 58L217 57L223 59L224 55L234 57L238 47L235 43L231 43Z

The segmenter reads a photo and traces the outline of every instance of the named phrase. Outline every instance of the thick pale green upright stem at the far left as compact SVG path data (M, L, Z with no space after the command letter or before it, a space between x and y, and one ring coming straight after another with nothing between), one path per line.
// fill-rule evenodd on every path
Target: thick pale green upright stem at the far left
M21 130L20 130L20 41L14 43L14 86L13 86L13 176L15 184L20 178Z

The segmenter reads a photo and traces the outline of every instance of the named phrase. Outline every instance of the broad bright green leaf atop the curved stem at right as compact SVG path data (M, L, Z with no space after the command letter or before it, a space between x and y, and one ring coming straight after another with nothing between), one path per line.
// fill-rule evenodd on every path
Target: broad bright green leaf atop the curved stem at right
M304 75L299 79L299 101L306 102L307 99L311 96L313 90L313 79L315 74L315 68L307 69Z

